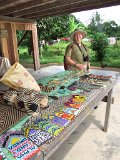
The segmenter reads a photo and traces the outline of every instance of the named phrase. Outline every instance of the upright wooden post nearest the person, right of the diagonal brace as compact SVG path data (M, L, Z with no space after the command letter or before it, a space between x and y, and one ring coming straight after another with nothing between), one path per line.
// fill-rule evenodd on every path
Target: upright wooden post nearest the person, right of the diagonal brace
M38 35L36 24L32 24L32 44L33 44L33 61L34 61L34 70L40 68L39 61L39 47L38 47Z

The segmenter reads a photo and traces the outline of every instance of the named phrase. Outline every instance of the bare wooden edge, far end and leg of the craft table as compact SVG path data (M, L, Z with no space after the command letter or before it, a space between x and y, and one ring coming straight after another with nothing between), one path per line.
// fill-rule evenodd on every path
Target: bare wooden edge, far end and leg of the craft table
M115 82L118 77L118 72L111 71L99 71L92 70L91 73L98 75L112 75L113 79L106 87L100 88L99 91L91 95L91 97L84 104L84 110L77 116L77 118L68 125L62 133L59 134L50 144L42 145L43 159L47 160L58 148L59 146L71 135L71 133L82 123L82 121L91 113L95 106L99 105L101 100L107 96L106 112L105 112L105 121L103 126L103 131L107 132L110 110L111 110L111 101L112 101L112 90L115 85ZM36 158L39 159L40 157Z

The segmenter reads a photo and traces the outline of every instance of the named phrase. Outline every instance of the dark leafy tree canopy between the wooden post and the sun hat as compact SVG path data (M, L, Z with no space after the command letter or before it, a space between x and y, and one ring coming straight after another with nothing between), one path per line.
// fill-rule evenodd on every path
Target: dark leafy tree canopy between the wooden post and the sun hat
M73 17L73 16L71 16ZM39 40L49 41L69 35L69 15L47 17L37 20Z

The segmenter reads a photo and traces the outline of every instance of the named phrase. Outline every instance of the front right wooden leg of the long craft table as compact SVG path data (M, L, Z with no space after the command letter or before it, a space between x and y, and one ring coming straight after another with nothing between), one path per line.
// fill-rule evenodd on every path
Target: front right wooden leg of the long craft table
M112 89L108 93L107 105L106 105L106 113L105 113L105 122L104 122L104 132L107 132L109 116L111 110L111 101L112 101Z

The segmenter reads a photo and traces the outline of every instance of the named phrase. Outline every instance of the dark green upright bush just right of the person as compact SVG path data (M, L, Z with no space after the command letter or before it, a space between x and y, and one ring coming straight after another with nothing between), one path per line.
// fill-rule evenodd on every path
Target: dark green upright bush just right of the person
M105 57L107 47L108 39L105 34L98 32L92 35L91 48L93 49L93 51L95 51L96 59L101 62L101 65Z

